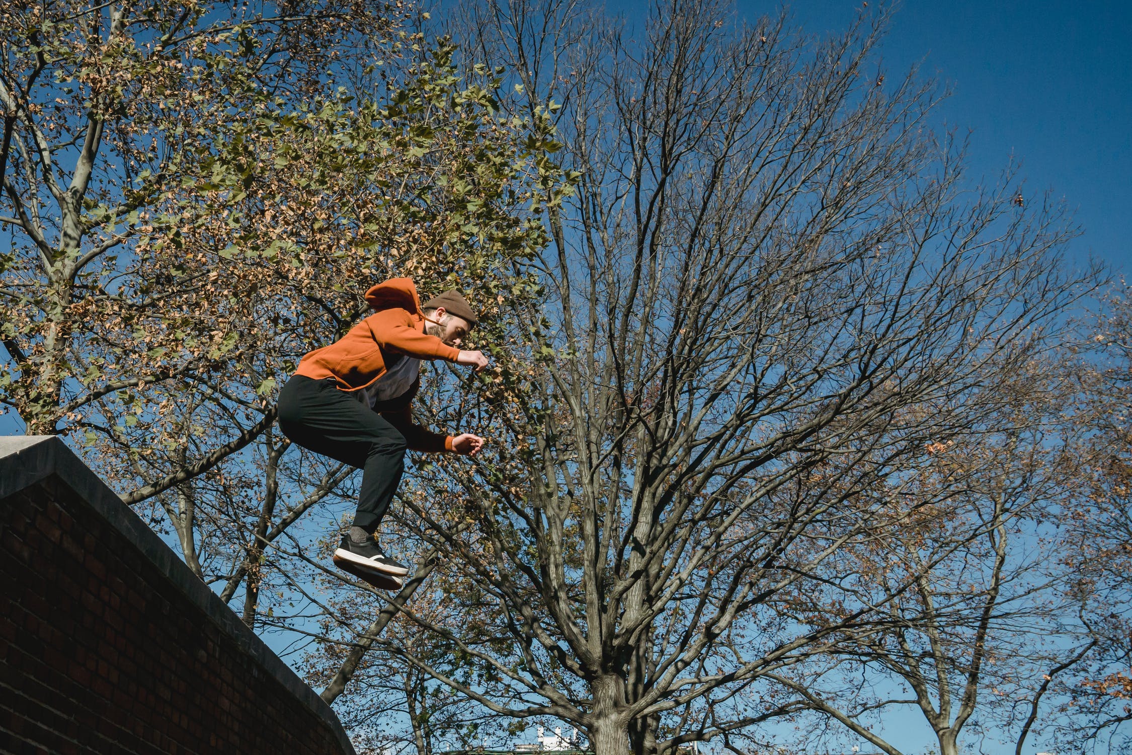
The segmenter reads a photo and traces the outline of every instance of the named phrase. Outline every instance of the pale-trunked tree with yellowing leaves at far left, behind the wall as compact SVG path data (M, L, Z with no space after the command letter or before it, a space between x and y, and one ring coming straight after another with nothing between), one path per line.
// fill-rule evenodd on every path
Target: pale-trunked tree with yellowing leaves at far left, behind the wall
M181 243L195 212L185 189L209 164L231 180L216 158L239 151L240 127L308 101L344 51L384 44L397 20L387 10L333 0L6 3L12 250L0 385L28 432L80 432L100 397L206 369L208 357L152 354L146 334L125 349L97 336L119 335L170 289L199 283L163 277L147 259L151 243ZM251 172L243 165L235 178Z

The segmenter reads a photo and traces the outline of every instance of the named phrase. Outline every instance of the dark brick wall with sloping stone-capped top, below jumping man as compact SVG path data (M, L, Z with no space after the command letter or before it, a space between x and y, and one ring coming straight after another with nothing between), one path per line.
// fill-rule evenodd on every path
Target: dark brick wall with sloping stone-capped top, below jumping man
M0 441L0 752L352 755L331 709L61 441Z

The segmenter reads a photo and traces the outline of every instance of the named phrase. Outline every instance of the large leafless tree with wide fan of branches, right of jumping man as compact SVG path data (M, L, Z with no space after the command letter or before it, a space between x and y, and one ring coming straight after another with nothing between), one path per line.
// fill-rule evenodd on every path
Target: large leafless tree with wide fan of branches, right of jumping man
M635 28L462 8L457 41L515 71L505 108L560 103L580 179L541 207L544 307L513 311L504 369L432 396L492 445L472 475L418 470L397 512L454 575L445 617L402 609L430 651L354 638L598 755L755 738L806 706L777 676L891 629L921 570L877 602L855 554L923 516L926 448L1003 421L1091 273L1065 272L1072 229L1012 174L964 188L936 91L873 63L884 12L814 40L711 0Z

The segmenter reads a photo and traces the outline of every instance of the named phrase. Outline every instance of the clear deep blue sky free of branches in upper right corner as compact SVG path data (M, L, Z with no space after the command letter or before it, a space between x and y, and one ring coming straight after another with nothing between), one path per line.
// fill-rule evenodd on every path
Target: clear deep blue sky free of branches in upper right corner
M754 18L778 6L739 0ZM800 25L844 28L860 0L801 0ZM1074 208L1078 258L1095 255L1132 280L1132 2L904 0L883 65L953 89L940 123L971 130L972 179L1021 160L1027 189Z

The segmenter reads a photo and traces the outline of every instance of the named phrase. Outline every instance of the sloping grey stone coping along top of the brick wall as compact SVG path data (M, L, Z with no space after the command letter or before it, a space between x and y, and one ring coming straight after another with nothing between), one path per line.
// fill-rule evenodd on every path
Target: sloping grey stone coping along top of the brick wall
M338 717L321 697L264 644L177 555L162 542L67 445L55 436L0 436L0 499L55 475L121 532L157 570L197 606L237 646L250 655L288 692L302 701L353 755L353 745Z

